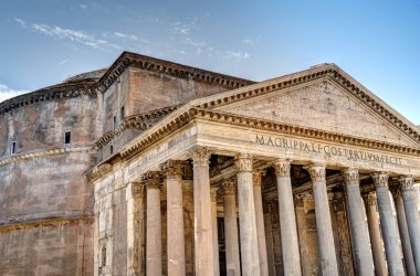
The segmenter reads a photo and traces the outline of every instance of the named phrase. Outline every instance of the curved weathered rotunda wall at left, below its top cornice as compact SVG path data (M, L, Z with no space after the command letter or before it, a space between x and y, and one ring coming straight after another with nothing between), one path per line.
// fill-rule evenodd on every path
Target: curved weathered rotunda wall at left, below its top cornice
M1 275L93 274L93 185L84 173L95 163L95 116L94 94L0 115Z

